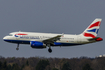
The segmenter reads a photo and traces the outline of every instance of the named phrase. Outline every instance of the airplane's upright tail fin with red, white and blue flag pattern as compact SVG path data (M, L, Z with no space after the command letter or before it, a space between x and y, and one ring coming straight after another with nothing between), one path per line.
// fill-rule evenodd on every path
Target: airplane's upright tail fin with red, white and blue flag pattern
M95 38L98 34L102 19L96 18L88 28L82 33L85 37Z

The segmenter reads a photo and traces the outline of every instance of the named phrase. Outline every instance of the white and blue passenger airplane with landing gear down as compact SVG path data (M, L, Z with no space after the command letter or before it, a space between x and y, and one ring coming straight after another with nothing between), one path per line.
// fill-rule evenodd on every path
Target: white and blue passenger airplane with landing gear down
M19 50L19 44L30 44L32 48L38 49L49 47L48 52L51 53L51 46L74 46L102 41L101 37L97 37L101 21L102 19L96 18L83 33L78 35L19 31L10 33L3 40L16 43L16 50Z

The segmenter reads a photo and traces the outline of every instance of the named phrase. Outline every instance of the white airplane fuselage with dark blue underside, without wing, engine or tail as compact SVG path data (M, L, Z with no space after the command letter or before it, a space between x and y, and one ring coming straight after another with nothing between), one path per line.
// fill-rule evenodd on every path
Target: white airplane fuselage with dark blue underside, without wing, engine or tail
M43 40L55 37L57 35L62 35L62 34L13 32L13 33L10 33L8 36L5 36L3 39L11 43L30 44L31 41L43 42ZM57 45L55 44L52 46L81 45L81 44L90 43L90 42L86 38L82 37L81 35L64 34L60 37L60 40L56 41L55 43L61 43L61 44L57 44Z

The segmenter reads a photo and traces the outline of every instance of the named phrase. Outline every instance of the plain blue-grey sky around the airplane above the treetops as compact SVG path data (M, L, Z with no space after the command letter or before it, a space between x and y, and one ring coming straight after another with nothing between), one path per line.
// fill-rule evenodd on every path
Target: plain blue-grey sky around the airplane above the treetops
M95 19L102 18L98 36L105 38L104 0L0 0L0 55L4 57L95 57L105 54L104 41L93 44L32 49L3 41L10 32L50 32L79 34Z

